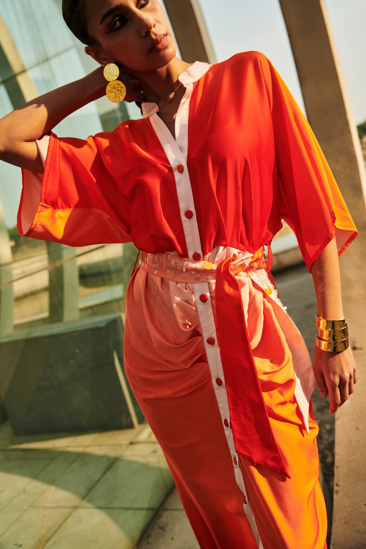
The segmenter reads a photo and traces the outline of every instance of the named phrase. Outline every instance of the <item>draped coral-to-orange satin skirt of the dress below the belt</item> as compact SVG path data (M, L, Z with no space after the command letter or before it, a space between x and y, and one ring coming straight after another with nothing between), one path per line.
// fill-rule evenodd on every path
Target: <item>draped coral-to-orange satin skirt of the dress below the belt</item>
M232 249L221 247L205 259L217 265L231 254ZM326 511L311 400L308 434L295 397L294 365L277 318L278 305L247 272L241 272L238 280L263 400L291 477L239 456L247 497L264 549L323 549ZM209 281L217 325L216 285L217 281ZM231 326L235 322L233 316ZM235 343L233 339L233 349ZM243 361L235 367L244 373ZM234 478L222 428L225 418L212 390L192 283L143 268L133 273L126 292L125 368L164 451L200 547L257 549Z

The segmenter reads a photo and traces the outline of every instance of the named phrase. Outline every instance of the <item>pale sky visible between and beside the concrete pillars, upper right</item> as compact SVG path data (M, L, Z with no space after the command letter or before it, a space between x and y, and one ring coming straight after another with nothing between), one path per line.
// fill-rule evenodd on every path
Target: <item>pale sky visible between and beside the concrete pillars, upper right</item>
M299 0L292 0L294 2ZM218 61L238 52L267 55L303 107L278 0L200 0ZM325 0L355 124L366 120L366 1Z

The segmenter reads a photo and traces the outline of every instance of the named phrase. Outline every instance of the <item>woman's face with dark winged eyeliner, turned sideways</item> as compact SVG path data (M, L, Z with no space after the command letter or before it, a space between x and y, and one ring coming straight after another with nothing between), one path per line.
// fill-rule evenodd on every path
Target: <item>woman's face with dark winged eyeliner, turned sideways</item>
M157 0L86 0L89 33L98 62L120 63L145 72L170 63L177 52L164 10Z

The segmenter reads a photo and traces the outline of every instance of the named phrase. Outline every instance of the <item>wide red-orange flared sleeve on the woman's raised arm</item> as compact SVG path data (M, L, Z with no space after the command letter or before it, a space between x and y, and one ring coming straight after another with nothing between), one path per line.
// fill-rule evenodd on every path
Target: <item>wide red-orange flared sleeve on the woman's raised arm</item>
M69 246L132 242L121 169L111 161L118 138L117 132L87 139L50 132L37 141L44 173L22 169L19 233Z

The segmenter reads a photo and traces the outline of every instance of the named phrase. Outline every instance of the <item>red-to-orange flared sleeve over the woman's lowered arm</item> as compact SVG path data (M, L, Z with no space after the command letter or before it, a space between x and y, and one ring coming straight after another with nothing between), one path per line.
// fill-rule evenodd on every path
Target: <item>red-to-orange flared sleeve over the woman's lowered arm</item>
M258 56L271 108L280 217L295 232L310 271L336 238L341 255L357 236L350 212L319 143L299 105L264 55Z

